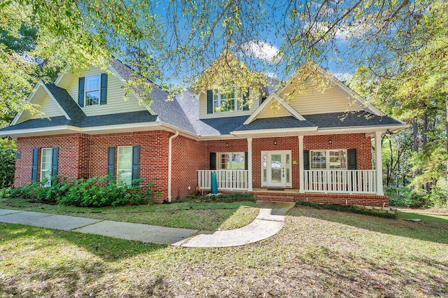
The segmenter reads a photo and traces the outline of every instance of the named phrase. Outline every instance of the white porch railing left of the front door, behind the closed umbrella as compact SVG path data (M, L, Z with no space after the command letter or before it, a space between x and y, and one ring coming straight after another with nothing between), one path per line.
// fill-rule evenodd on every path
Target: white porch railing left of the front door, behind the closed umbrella
M202 190L210 189L212 172L216 172L218 190L248 190L248 170L198 170L197 183Z

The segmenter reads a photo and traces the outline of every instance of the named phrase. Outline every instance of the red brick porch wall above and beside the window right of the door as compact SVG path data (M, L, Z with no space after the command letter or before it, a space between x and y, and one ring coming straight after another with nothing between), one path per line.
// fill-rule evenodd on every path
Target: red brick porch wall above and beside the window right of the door
M329 144L328 140L332 143ZM330 134L304 136L304 150L316 149L356 149L356 161L359 170L372 169L372 141L365 134Z

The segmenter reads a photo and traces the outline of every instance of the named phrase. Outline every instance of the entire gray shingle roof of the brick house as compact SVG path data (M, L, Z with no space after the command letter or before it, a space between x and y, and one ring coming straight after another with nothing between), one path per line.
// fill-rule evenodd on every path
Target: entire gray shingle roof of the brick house
M112 59L111 65L125 80L129 80L132 69L117 59ZM151 81L149 81L151 83ZM273 92L274 83L267 86L267 92ZM69 115L71 120L64 116L32 119L1 129L10 131L16 129L33 129L42 127L54 127L60 125L71 125L74 127L99 127L106 125L124 125L141 122L164 122L168 125L178 127L187 132L199 136L220 136L230 132L261 130L261 129L288 129L300 127L318 127L320 129L336 127L366 127L379 125L402 125L402 122L390 117L379 117L364 111L356 113L326 113L304 115L306 120L297 120L290 117L260 118L248 125L243 123L249 117L235 116L223 118L199 119L199 99L197 95L188 90L176 95L174 100L168 101L168 92L162 90L158 85L153 84L153 92L150 96L154 99L151 108L156 115L151 115L148 111L137 111L129 113L118 113L109 115L87 116L78 106L75 100L66 90L57 87L53 83L45 84L59 105Z

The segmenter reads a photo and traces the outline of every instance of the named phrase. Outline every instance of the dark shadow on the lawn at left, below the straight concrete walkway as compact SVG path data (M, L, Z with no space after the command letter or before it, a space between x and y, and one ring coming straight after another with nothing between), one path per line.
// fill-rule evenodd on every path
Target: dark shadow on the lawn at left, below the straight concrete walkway
M52 246L53 241L68 242L79 248L83 248L92 255L96 255L106 262L135 257L141 254L150 254L157 250L167 248L167 245L143 243L111 238L109 236L66 232L41 227L0 223L0 243L18 239L32 239L38 243L38 247ZM48 241L52 239L52 241ZM26 240L25 240L26 241Z

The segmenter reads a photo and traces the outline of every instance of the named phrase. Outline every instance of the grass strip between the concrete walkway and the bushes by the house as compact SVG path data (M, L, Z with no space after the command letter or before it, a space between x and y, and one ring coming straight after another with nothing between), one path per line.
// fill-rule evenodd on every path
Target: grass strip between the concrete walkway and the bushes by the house
M244 227L258 215L258 207L249 201L85 208L0 198L0 208L208 231Z

